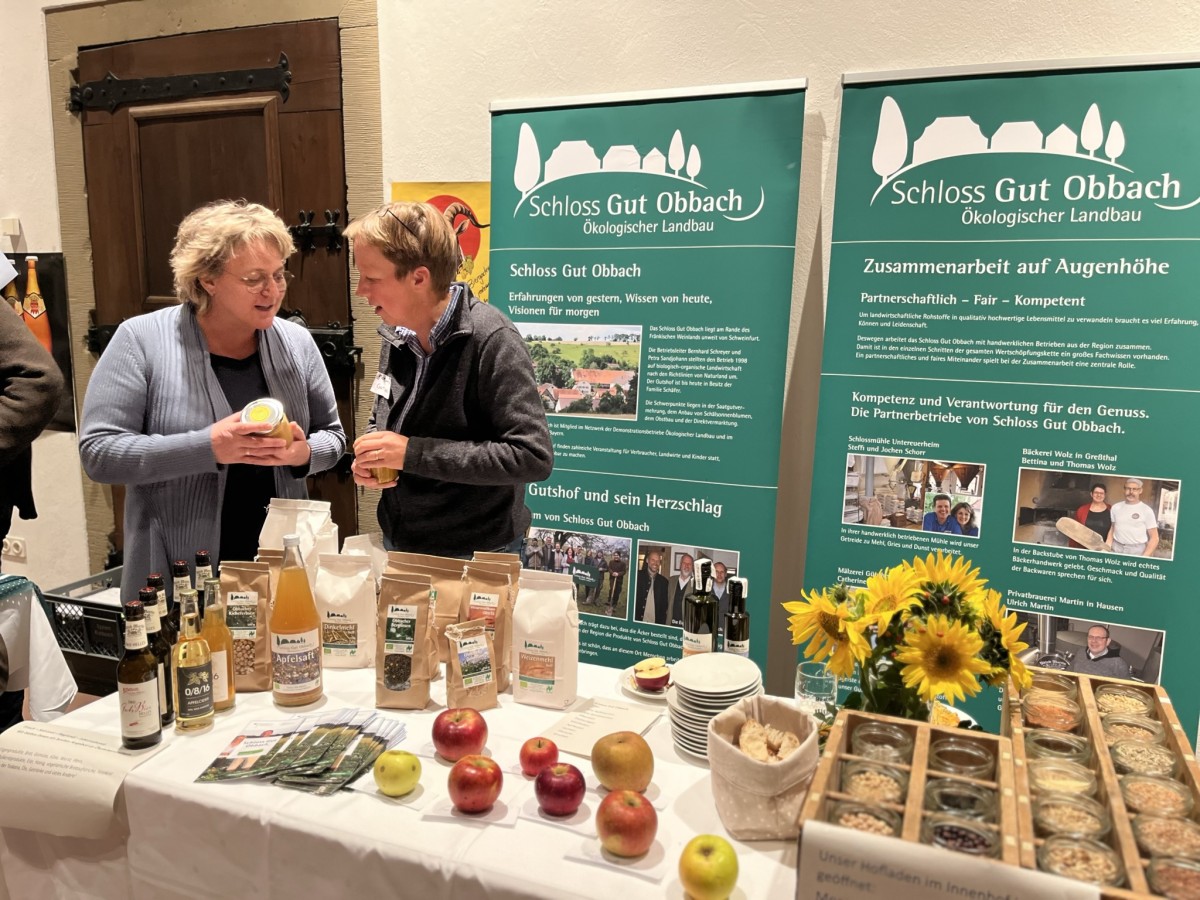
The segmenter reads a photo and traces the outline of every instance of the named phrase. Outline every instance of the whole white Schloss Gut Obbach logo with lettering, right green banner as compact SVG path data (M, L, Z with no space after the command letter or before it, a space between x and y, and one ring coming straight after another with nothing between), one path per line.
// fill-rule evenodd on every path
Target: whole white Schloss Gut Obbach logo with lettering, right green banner
M1126 178L1133 169L1117 160L1126 151L1126 133L1121 122L1105 124L1098 103L1092 103L1084 113L1079 131L1061 124L1049 134L1043 134L1037 122L1008 121L1000 125L989 137L968 115L937 116L908 144L908 128L900 106L892 97L884 97L880 106L880 124L871 152L871 168L882 179L871 194L888 205L941 205L961 206L962 224L1032 224L1061 222L1068 216L1070 222L1140 222L1142 210L1115 204L1135 200L1152 200L1164 210L1182 210L1200 203L1200 198L1183 204L1178 200L1181 185L1170 172L1156 179ZM1102 155L1097 155L1097 154ZM1006 175L986 184L947 184L932 176L913 178L914 170L959 156L983 154L1028 154L1043 157L1072 157L1097 169L1073 174L1054 185L1049 178L1031 180ZM1106 203L1100 209L1070 208L1069 210L1033 208L979 209L997 203L1038 204L1052 200L1068 203Z

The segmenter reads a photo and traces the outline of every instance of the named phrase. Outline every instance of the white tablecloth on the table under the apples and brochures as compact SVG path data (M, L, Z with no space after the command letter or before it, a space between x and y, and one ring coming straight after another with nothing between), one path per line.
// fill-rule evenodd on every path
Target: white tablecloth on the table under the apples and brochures
M677 860L695 835L725 835L713 805L708 767L677 751L665 704L624 694L617 670L582 665L580 697L616 697L662 709L647 732L655 756L654 784L665 803L659 833L665 876L652 881L613 868L568 859L584 839L554 826L520 820L514 827L448 822L422 811L343 791L312 797L258 782L196 784L196 776L246 724L284 718L266 694L245 694L200 734L163 736L169 743L126 779L119 808L128 836L98 841L0 830L0 898L679 898ZM374 671L325 672L331 707L374 707ZM445 701L445 680L433 685L431 708L380 710L403 719L414 752L430 742ZM505 780L522 784L516 803L533 797L532 780L511 774L521 743L552 727L563 713L500 697L484 713L488 751ZM115 695L60 720L118 733ZM590 763L565 757L594 785ZM448 766L422 760L424 788L444 793ZM368 775L370 778L370 775ZM2 803L0 798L0 803ZM427 806L425 808L427 810ZM728 835L725 835L728 836ZM596 839L592 839L596 841ZM791 898L796 892L794 841L732 841L740 877L734 896Z

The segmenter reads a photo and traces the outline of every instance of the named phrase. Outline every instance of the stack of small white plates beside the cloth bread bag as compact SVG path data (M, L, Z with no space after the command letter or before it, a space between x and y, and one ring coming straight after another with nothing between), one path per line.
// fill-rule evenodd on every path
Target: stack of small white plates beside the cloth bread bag
M671 667L671 737L690 756L708 758L708 722L743 697L762 694L762 673L745 656L697 653Z

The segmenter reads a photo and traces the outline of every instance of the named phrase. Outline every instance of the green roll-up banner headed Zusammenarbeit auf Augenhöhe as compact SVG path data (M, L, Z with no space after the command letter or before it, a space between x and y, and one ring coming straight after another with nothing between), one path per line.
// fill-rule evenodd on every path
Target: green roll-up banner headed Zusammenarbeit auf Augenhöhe
M1189 731L1198 91L1194 65L847 84L805 574L961 553L1046 665L1160 680Z

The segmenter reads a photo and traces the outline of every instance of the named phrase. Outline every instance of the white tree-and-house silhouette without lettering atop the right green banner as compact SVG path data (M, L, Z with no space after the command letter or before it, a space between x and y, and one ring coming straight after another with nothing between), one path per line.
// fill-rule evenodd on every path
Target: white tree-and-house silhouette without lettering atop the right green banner
M1097 150L1102 151L1102 156L1096 155ZM1124 150L1124 128L1116 120L1105 126L1098 103L1087 108L1078 133L1066 122L1049 134L1043 134L1033 121L1006 121L991 136L986 136L971 116L953 115L935 118L920 137L910 144L908 126L900 104L888 96L880 104L880 122L871 151L871 168L880 176L880 186L871 194L871 203L899 175L937 160L995 152L1050 154L1074 156L1132 173L1133 169L1117 162Z

